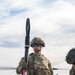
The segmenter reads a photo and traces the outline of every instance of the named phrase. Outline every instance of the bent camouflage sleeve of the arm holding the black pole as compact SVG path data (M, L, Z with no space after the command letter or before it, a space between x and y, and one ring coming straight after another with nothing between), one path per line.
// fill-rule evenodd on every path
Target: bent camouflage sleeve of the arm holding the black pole
M27 64L26 64L25 61L24 61L24 57L21 58L21 60L20 60L20 62L19 62L19 64L18 64L18 66L17 66L17 68L16 68L16 73L17 73L17 74L21 74L23 68L27 68Z

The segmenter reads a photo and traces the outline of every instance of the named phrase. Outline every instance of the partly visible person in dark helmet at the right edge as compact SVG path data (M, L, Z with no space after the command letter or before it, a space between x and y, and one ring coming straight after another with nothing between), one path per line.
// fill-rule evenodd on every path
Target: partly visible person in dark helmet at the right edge
M72 64L69 75L75 75L75 48L72 48L66 55L66 62Z

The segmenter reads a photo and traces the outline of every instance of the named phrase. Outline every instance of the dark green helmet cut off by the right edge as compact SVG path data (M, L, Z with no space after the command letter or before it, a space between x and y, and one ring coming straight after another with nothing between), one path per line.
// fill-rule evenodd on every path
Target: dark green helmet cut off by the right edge
M70 49L66 55L66 62L68 64L75 64L75 48Z

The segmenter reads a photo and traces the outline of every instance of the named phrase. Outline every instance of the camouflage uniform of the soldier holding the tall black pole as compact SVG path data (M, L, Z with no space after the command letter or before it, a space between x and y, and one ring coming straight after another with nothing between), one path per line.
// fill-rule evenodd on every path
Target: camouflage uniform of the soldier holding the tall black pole
M23 64L24 58L19 62L16 69L18 74L22 73L22 67L27 67ZM31 53L28 57L28 75L53 75L53 69L50 61L44 55Z

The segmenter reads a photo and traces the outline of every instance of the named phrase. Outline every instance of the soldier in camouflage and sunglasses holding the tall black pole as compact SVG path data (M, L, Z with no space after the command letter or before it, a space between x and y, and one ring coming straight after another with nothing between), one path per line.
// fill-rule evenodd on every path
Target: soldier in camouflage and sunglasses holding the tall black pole
M28 63L24 62L24 57L21 58L16 69L17 74L22 74L23 68L28 68L28 75L53 75L51 62L41 54L41 50L45 47L45 43L39 37L32 39L30 46L34 53L29 54Z

